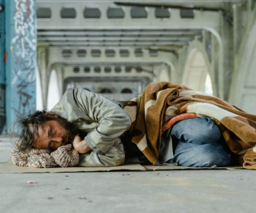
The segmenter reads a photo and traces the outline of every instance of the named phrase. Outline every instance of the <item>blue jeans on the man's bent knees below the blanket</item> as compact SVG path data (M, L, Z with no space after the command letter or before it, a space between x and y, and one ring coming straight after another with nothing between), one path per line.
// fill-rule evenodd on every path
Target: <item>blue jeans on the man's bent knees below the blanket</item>
M230 154L218 143L221 132L212 119L193 118L176 122L171 129L174 162L187 167L224 167ZM176 141L176 143L175 143Z

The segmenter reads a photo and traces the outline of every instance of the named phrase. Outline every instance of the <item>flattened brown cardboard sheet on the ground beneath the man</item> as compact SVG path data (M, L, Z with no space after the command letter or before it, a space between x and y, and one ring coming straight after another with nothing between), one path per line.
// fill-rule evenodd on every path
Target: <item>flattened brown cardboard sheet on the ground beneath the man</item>
M97 171L145 171L145 170L237 170L244 169L238 167L181 167L181 166L153 166L140 164L124 164L119 167L55 167L55 168L32 168L32 167L17 167L11 163L11 160L0 164L0 173L77 173L77 172L97 172Z

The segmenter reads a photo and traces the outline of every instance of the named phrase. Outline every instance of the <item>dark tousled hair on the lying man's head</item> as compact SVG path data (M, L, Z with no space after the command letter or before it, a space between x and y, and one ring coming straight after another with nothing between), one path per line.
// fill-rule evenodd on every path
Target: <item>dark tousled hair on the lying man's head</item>
M17 119L16 124L18 125L18 130L20 130L19 138L21 139L20 151L30 150L33 147L34 136L38 134L38 126L43 125L47 120L53 119L47 116L47 113L48 111L46 110L37 110Z

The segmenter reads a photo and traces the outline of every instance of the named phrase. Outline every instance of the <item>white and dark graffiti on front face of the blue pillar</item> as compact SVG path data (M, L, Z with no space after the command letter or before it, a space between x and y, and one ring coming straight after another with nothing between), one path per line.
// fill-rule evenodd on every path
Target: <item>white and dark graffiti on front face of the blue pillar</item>
M14 57L14 77L18 104L14 109L17 116L30 110L35 101L36 81L36 23L34 0L15 0L14 37L11 40ZM32 103L33 105L33 103Z

